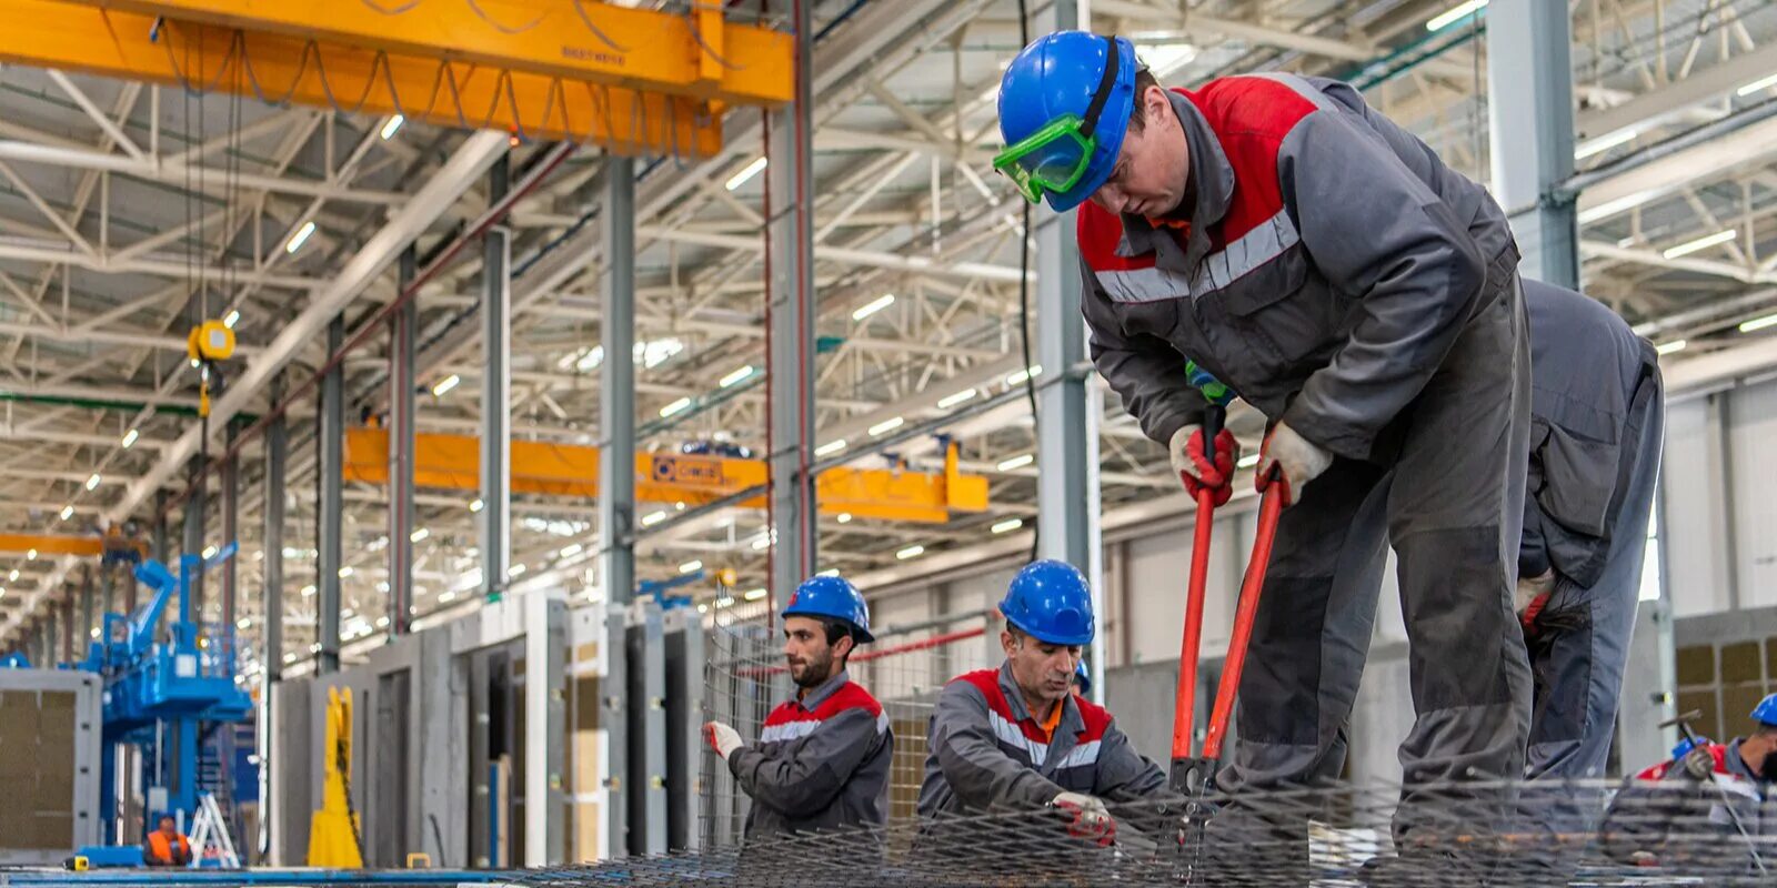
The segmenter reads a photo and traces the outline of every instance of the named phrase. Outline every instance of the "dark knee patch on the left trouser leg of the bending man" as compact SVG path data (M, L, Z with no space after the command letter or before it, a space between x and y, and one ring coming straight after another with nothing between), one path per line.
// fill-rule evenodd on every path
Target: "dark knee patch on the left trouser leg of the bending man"
M1317 742L1331 577L1267 577L1240 675L1240 739Z

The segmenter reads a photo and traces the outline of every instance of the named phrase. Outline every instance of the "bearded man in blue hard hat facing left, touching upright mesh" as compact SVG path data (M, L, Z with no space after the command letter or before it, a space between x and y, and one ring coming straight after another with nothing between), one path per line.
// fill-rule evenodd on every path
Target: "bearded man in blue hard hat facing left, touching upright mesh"
M888 716L846 675L846 659L871 641L871 611L857 586L812 577L784 607L784 662L796 696L766 716L752 744L729 725L704 725L709 746L753 799L748 838L888 822Z

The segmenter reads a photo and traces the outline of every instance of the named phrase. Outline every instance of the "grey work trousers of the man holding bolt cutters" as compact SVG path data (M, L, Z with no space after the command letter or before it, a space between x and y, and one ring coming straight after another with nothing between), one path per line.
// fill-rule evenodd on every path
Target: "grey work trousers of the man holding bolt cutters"
M1400 417L1388 464L1336 458L1283 511L1221 776L1230 792L1338 776L1391 543L1416 716L1400 746L1397 844L1448 822L1439 806L1454 797L1482 812L1475 829L1509 815L1498 790L1461 787L1519 776L1530 733L1530 666L1512 613L1528 321L1516 274L1496 293Z

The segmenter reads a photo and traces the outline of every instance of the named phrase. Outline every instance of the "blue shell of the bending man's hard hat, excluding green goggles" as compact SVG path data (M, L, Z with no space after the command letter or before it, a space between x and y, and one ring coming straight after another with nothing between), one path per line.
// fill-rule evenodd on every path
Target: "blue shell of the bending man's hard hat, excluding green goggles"
M1086 174L1061 194L1045 194L1048 206L1064 213L1086 202L1098 190L1123 149L1128 115L1136 108L1136 44L1123 37L1102 37L1084 30L1059 30L1038 37L1024 48L1000 78L1000 139L1015 146L1061 115L1086 117L1105 76L1105 62L1116 53L1116 78L1093 124L1096 147Z

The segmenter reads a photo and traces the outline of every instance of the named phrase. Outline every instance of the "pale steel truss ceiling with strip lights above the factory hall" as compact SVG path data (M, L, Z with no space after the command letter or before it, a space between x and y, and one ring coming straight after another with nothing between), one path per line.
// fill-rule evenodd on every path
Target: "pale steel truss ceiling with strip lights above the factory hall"
M1095 0L1091 9L1098 30L1137 41L1162 82L1262 69L1358 82L1486 181L1484 16L1430 28L1452 5ZM1777 364L1777 341L1756 323L1777 311L1777 7L1569 5L1576 155L1582 176L1596 179L1580 194L1585 289L1661 343L1674 391ZM1029 458L1031 407L1018 396L1022 233L1015 194L988 167L999 76L1020 44L1016 16L1009 0L814 7L817 456L942 471L935 433L944 433L961 442L963 469L992 480L990 511L947 526L823 517L823 567L865 583L1029 545L1040 467ZM549 144L508 146L506 133L387 115L0 69L0 533L94 533L133 520L151 536L156 494L183 492L199 435L199 380L185 359L192 321L233 318L238 366L279 353L291 375L316 371L332 313L343 311L350 332L396 298L387 256L364 259L391 243L384 233L418 234L421 254L453 238L492 204L480 172L508 147L514 170L558 163L510 217L512 433L595 444L608 359L595 348L604 158L547 158ZM714 156L634 165L638 449L764 449L762 158L762 114L736 108ZM478 428L480 266L478 250L466 250L419 289L421 432ZM345 361L352 421L387 410L386 348L379 336ZM1045 369L1056 368L1031 373ZM1107 526L1183 510L1164 449L1107 401ZM270 403L265 375L243 375L224 412L254 417ZM316 625L307 403L288 416L283 490L291 662L307 655ZM1235 430L1256 442L1256 417L1237 417ZM261 462L258 444L242 451L242 629L261 620ZM419 620L478 602L471 506L460 492L418 496ZM521 494L512 511L514 586L592 583L594 503ZM732 567L741 590L764 586L771 540L759 511L666 520L675 511L641 517L641 579ZM389 616L386 513L387 490L347 487L345 634L363 643ZM220 542L219 515L206 540ZM0 552L0 638L69 595L73 567Z

